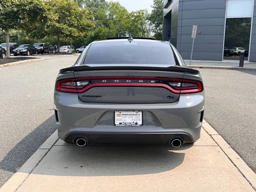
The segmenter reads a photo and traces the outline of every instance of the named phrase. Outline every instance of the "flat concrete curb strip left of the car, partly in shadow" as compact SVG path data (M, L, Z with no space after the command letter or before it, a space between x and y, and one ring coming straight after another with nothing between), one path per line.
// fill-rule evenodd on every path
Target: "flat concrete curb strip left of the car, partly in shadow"
M0 188L0 192L16 192L49 150L52 149L58 139L58 132L55 130L21 168Z

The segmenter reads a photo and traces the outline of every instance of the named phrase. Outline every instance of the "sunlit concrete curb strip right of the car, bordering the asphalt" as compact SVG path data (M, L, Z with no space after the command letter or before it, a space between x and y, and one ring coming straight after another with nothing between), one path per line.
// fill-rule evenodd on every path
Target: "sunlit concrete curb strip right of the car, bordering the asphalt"
M231 146L225 142L221 135L209 125L205 120L202 125L203 129L212 137L212 139L218 144L220 149L225 153L229 160L236 166L242 176L250 183L252 188L256 190L256 174L251 168L242 160L242 158L235 152Z

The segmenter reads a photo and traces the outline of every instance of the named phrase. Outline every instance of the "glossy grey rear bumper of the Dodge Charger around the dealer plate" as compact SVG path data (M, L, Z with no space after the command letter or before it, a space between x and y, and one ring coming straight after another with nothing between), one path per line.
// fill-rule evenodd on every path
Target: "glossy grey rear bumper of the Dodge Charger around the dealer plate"
M82 137L88 139L88 143L100 138L146 138L153 142L155 138L158 143L167 144L177 137L190 143L200 138L204 92L181 95L175 103L112 104L82 102L77 94L55 91L54 108L58 136L65 141ZM114 126L115 110L143 111L143 126Z

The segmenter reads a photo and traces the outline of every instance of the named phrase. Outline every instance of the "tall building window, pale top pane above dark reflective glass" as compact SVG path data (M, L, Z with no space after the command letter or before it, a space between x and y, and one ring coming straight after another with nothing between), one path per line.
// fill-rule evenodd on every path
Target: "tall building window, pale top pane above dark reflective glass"
M249 58L253 1L228 0L226 8L223 59L239 60L244 53Z

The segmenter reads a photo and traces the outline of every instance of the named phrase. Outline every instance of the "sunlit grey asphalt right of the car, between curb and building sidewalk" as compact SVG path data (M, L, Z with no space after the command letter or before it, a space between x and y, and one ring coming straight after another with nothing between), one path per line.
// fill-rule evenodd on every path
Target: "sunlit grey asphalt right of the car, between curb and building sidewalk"
M200 72L206 91L204 118L256 172L256 71Z

